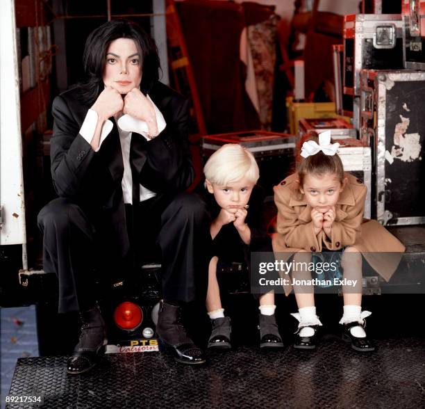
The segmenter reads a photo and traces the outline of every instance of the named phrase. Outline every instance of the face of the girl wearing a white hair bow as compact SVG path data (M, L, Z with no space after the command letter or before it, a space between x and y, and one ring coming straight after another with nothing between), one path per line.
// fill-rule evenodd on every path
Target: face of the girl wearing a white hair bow
M340 193L344 189L338 175L325 173L324 175L304 176L301 193L304 194L306 202L310 207L321 213L326 213L335 206L340 198Z

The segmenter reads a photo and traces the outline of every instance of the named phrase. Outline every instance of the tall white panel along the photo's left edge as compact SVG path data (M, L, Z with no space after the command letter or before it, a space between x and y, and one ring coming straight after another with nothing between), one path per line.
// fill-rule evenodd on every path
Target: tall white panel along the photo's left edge
M26 243L15 0L0 1L0 244Z

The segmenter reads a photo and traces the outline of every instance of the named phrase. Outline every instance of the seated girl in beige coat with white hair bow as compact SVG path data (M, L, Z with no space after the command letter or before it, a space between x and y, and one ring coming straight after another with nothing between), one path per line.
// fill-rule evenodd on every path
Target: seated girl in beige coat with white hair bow
M363 311L362 257L380 275L389 280L394 273L403 245L376 220L363 220L367 188L359 179L344 173L338 154L338 143L331 144L330 132L306 141L301 148L297 173L287 177L274 188L278 208L277 233L273 236L275 254L288 260L294 255L294 264L312 262L312 252L333 251L340 258L343 279L344 312L343 337L356 351L374 351L374 344L365 332L365 318L371 312ZM382 254L382 252L393 252ZM314 262L315 257L313 257ZM305 264L304 264L305 265ZM292 283L301 279L308 282L310 272L292 271ZM344 280L343 280L344 281ZM289 293L290 288L285 288ZM292 314L298 321L295 348L312 349L322 323L316 315L313 287L294 285L299 307Z

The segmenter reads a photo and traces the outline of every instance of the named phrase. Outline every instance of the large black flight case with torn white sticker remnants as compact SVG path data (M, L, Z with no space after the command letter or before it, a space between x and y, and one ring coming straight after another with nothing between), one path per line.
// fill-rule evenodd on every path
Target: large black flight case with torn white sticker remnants
M361 139L373 149L376 219L425 223L425 72L361 73Z

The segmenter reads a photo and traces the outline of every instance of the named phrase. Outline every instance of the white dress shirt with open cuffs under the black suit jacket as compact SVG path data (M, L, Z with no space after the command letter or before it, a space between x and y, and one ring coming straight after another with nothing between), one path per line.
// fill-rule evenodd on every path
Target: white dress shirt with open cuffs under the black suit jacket
M147 98L153 105L153 109L155 109L156 115L156 125L158 126L158 135L165 129L167 125L163 114L158 109L158 107L153 104L152 99L147 95ZM96 130L97 125L97 112L92 109L88 110L87 115L85 115L85 120L80 129L80 134L83 136L85 141L88 143L92 142L92 138L94 136L94 131ZM122 177L122 193L124 197L124 203L132 204L133 203L133 178L131 177L131 168L130 168L130 146L131 146L131 138L133 137L133 132L136 132L147 141L151 141L151 138L148 136L148 125L145 121L138 120L136 118L131 117L130 115L122 115L117 120L117 127L119 133L119 142L121 143L122 150L122 161L124 163L124 175ZM113 129L113 123L110 120L106 120L103 122L103 126L101 129L101 138L99 147L95 152L98 152L101 144L105 141L106 137L110 134L110 131ZM156 135L156 136L158 136ZM137 136L139 137L139 136ZM150 191L144 186L140 185L140 202L144 200L153 198L156 195L155 192Z

